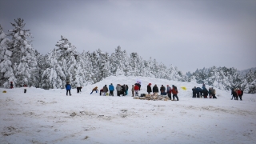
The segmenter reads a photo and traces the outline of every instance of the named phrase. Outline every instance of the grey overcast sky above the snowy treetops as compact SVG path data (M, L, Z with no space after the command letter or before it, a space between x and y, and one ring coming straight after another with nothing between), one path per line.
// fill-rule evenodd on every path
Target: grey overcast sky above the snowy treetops
M35 50L61 35L82 50L117 46L178 70L256 67L255 0L0 0L0 24L23 18Z

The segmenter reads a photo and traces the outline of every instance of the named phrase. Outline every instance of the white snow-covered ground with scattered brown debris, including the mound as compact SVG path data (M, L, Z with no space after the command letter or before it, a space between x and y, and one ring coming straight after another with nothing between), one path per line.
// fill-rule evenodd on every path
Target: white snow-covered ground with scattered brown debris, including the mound
M128 96L90 94L94 86L142 82L175 85L178 102L146 101ZM186 86L187 90L180 89ZM216 90L217 99L192 98L193 82L157 78L108 77L71 90L0 89L0 143L255 143L256 94L230 100L230 92ZM208 88L208 86L206 86ZM2 93L6 90L7 93Z

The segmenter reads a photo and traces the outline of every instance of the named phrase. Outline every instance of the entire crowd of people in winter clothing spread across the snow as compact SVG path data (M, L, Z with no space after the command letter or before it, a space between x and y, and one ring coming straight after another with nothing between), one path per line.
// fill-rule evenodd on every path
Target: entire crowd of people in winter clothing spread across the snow
M10 87L13 88L13 83L10 83ZM24 85L24 87L26 87L26 84ZM77 91L78 93L81 92L82 87L77 87ZM120 85L118 84L116 86L116 90L117 90L117 95L120 97L120 95L126 96L128 94L128 89L129 87L124 84L124 85ZM138 96L138 91L141 89L141 84L140 83L135 83L134 85L132 85L131 88L131 92L132 92L132 97ZM66 82L66 96L68 96L68 94L70 94L70 90L71 90L71 86L70 86L70 82ZM93 92L98 93L98 86L94 87L94 89L91 91L90 94L93 94ZM114 96L114 86L111 83L108 87L105 85L103 86L103 88L100 90L100 95L106 96L108 95L108 91L110 91L110 96ZM155 84L153 86L153 89L151 88L151 83L149 83L147 85L147 93L150 94L151 92L155 93L159 93L159 89L158 86ZM209 90L206 89L205 84L202 84L202 88L200 87L196 87L194 86L194 88L192 89L193 91L193 96L192 98L216 98L216 90L214 89L214 87L210 87ZM24 90L24 93L26 93L26 89ZM169 85L165 86L161 86L160 87L160 94L161 95L168 95L168 97L170 98L170 100L175 100L175 98L177 98L178 101L178 90L177 87L172 85L172 87L170 87ZM173 94L173 98L171 97L171 94ZM231 91L231 95L232 98L231 100L238 100L238 97L240 98L240 100L242 101L242 95L243 95L243 90L240 90L239 88L237 89L232 89ZM71 94L70 94L71 96Z

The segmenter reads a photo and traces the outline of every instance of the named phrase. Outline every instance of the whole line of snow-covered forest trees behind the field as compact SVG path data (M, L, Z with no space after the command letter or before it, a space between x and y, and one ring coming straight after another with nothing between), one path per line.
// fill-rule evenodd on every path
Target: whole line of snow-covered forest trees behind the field
M42 89L64 88L67 81L73 87L102 81L111 75L142 76L174 81L205 83L222 90L242 88L246 93L256 93L256 71L245 76L235 68L210 67L182 74L176 66L165 66L153 58L143 60L137 53L127 54L121 46L109 54L98 49L79 53L63 36L54 50L39 54L34 50L30 30L24 30L22 18L10 23L12 30L6 34L0 25L0 84L9 87L34 86Z

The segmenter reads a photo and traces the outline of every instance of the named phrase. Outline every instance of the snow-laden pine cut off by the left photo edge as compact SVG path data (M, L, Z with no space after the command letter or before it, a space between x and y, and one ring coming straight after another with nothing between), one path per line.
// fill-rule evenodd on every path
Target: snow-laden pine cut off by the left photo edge
M10 57L12 52L8 50L10 40L6 38L6 34L0 25L0 85L10 87L10 82L15 82L12 63Z

